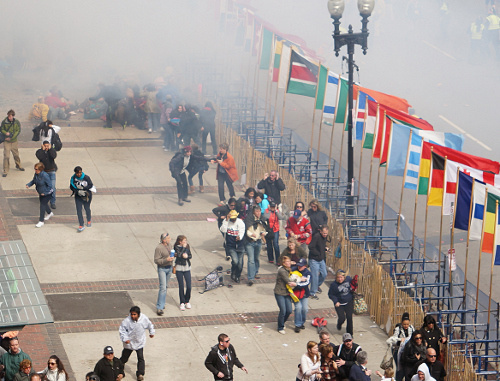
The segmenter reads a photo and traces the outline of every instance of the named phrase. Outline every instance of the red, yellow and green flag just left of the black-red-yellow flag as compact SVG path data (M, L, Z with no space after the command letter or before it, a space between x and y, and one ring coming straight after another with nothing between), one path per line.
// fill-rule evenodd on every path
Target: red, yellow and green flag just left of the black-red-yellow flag
M474 156L460 152L451 148L442 147L437 144L424 142L422 147L422 157L420 159L420 178L418 184L418 194L427 194L430 175L430 160L431 160L431 147L434 152L448 160L455 161L460 164L465 164L471 168L479 169L481 171L488 171L498 173L500 171L500 163L497 161L485 159L479 156Z

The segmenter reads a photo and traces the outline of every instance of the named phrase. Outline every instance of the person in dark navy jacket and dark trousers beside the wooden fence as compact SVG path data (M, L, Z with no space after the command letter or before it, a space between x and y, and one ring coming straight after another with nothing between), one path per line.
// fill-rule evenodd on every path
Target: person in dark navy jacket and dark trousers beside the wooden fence
M337 311L337 329L342 329L342 324L347 320L346 331L353 334L352 314L354 313L354 297L351 290L351 277L346 276L344 270L337 270L335 282L328 290L328 297L332 300Z

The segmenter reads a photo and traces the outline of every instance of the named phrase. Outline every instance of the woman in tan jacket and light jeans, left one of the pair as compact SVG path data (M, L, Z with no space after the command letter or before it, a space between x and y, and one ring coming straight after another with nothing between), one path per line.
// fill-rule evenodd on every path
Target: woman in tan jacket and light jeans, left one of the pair
M163 316L165 309L165 298L167 297L167 287L174 264L175 253L172 253L170 246L171 237L165 232L160 235L160 243L156 246L154 261L158 268L159 290L158 299L156 301L156 314Z

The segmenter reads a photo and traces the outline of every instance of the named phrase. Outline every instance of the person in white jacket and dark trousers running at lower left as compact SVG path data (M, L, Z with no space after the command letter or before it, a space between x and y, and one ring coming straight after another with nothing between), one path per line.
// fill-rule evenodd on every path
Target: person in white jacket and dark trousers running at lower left
M144 346L146 345L146 330L149 337L155 335L155 328L151 320L141 314L141 309L134 306L130 309L130 315L123 319L120 324L120 340L123 342L121 362L125 365L133 351L137 353L137 380L144 380L146 362L144 361Z

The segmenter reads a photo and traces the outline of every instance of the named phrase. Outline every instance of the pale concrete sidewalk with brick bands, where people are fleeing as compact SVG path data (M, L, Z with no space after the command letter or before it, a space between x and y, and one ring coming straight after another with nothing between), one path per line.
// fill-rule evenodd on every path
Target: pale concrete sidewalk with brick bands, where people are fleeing
M204 359L221 332L230 336L238 357L249 370L248 375L236 370L236 379L294 379L307 341L318 340L316 329L306 324L305 331L294 333L292 315L286 335L276 331L276 267L267 263L265 251L260 257L262 278L253 287L245 283L245 264L241 284L199 293L202 282L198 279L216 266L230 268L217 223L207 220L213 217L211 210L218 202L214 166L204 177L206 193L196 193L191 203L178 206L175 181L168 171L172 153L164 152L160 140L154 138L159 134L121 127L79 127L77 120L71 121L71 127L63 126L64 147L56 160L57 209L41 229L34 227L38 198L34 190L24 189L35 163L33 143L21 144L21 159L27 171L13 170L2 179L12 223L28 249L54 315L65 312L60 310L84 294L91 298L99 295L106 301L104 307L95 310L87 304L72 307L76 310L71 311L76 316L72 320L26 327L20 334L22 346L33 355L35 369L45 366L43 356L56 353L69 362L75 379L82 379L102 357L104 346L113 346L119 355L122 346L117 329L130 306L114 302L119 293L125 293L129 298L126 300L140 306L157 327L156 336L146 345L146 379L212 379ZM76 165L83 167L97 188L92 201L93 226L82 233L76 232L74 201L68 189ZM193 308L179 310L177 282L172 277L165 315L160 318L155 308L158 281L153 253L165 230L173 239L178 234L186 235L193 249ZM283 240L281 249L285 244ZM229 276L225 278L229 280ZM320 300L310 300L308 319L328 317L332 341L339 343L344 331L336 330L327 285L323 289ZM53 296L67 298L68 302L62 306L51 303ZM103 318L104 310L112 318ZM93 318L79 318L80 313ZM354 327L354 341L368 351L369 368L377 370L385 353L386 334L368 316L356 316ZM126 366L130 379L135 379L134 356Z

